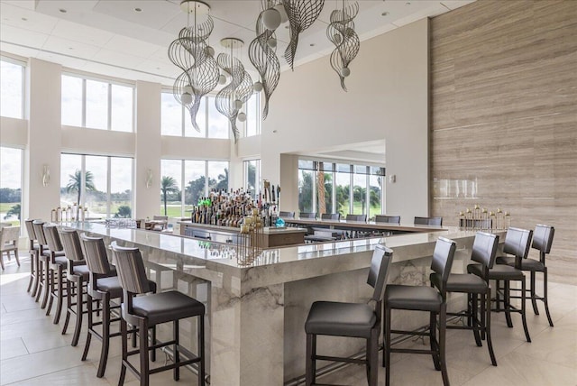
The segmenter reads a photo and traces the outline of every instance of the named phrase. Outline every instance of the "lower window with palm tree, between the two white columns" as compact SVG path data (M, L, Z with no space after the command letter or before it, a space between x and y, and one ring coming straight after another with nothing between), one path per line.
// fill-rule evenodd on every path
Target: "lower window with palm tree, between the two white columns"
M60 162L60 207L79 204L90 217L133 216L133 159L61 154Z

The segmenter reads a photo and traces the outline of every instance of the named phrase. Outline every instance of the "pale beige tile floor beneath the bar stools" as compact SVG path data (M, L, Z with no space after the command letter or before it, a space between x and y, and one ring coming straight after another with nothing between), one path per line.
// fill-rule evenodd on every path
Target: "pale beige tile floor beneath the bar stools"
M69 345L73 328L69 328L67 335L60 335L64 317L60 325L53 325L52 317L46 317L44 310L26 292L29 262L25 256L21 262L20 268L14 259L6 262L6 270L0 275L0 384L117 384L119 339L113 339L105 377L96 378L100 343L93 339L87 361L80 361L86 333L80 336L77 347ZM490 365L486 347L474 344L470 331L450 330L447 334L447 363L451 383L463 386L577 386L577 286L549 283L549 298L554 327L548 326L545 315L534 315L527 304L532 343L525 341L517 315L513 316L515 327L508 328L503 314L493 314L492 336L499 363L497 367ZM161 356L159 362L162 362ZM430 356L392 354L392 362L393 385L442 384L441 374L435 372ZM379 384L384 384L382 368L379 379ZM364 369L356 365L347 366L318 381L366 385ZM185 370L181 372L180 381L174 382L171 372L160 372L151 377L151 383L196 384L196 377ZM127 372L125 384L137 384L130 372Z

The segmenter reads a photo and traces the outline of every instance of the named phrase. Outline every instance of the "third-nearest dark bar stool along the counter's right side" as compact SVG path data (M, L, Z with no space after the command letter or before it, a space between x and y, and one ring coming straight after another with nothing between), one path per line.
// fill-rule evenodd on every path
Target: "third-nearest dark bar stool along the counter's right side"
M467 310L465 312L447 312L449 316L467 317L467 326L447 326L453 329L472 330L476 344L481 347L481 339L487 336L487 347L489 348L490 362L497 365L493 344L490 337L490 286L489 270L495 263L495 254L499 245L497 234L477 232L472 244L471 260L481 263L482 276L472 273L450 273L446 282L447 292L457 292L467 294ZM434 272L429 276L431 286L441 290L441 276ZM481 298L481 299L479 299ZM479 304L481 303L481 320L478 317ZM481 332L481 335L479 334Z

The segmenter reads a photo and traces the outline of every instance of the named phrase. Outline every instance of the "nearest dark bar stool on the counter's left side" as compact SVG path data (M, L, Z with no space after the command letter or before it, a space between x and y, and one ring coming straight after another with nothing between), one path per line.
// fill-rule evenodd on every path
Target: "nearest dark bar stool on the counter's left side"
M180 367L198 363L198 384L205 384L205 305L196 299L189 298L179 291L171 290L157 294L136 297L151 291L144 262L138 248L125 248L112 243L112 250L118 271L118 279L123 288L123 303L121 306L122 319L120 328L123 340L123 362L118 385L124 384L126 368L136 375L142 386L150 384L150 375L165 370L173 370L173 378L179 381ZM186 349L179 345L179 319L197 317L198 353L189 354L192 358L180 360L180 352ZM161 323L173 323L173 338L169 342L157 344L152 339L148 342L148 329ZM126 324L137 326L140 331L140 347L138 350L128 351L128 332ZM148 352L157 348L173 345L174 363L150 369ZM128 356L140 354L140 372L128 361Z

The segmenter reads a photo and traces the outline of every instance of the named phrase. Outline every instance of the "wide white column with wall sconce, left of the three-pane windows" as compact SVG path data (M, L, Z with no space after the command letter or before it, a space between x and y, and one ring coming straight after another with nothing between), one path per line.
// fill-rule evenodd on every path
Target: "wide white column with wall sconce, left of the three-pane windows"
M31 58L26 72L23 218L50 220L50 210L60 205L61 66Z

